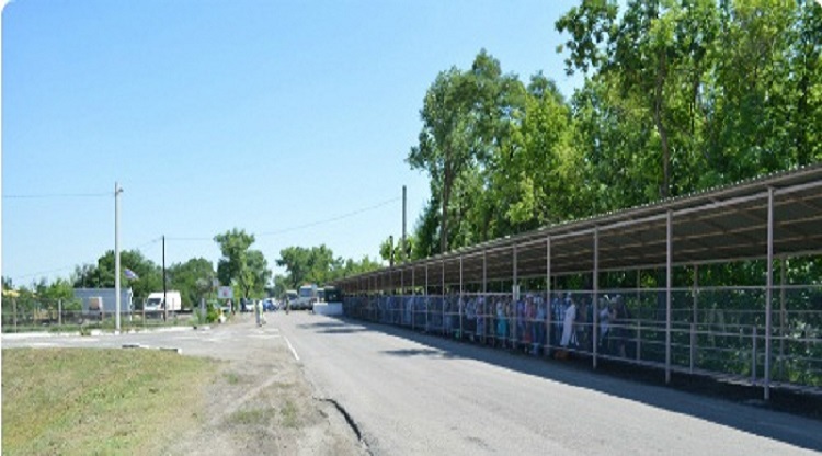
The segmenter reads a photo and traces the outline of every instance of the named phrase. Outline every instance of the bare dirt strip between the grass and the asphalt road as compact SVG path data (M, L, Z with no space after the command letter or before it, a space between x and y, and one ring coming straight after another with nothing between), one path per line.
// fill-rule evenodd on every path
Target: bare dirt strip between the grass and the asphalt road
M204 425L163 454L368 454L334 403L315 396L286 349L250 345L242 360L219 361L204 396Z

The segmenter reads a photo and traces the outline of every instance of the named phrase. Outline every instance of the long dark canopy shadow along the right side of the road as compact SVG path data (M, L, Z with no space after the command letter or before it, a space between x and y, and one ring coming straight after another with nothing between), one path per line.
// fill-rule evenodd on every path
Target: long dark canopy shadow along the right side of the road
M339 317L332 322L301 327L320 330L334 328L334 331L350 333L381 332L425 346L381 352L387 356L475 360L822 452L822 433L819 432L822 429L822 398L813 395L772 389L770 401L766 403L761 400L762 388L730 385L686 374L674 374L671 384L665 385L664 372L632 364L603 360L597 369L593 369L590 357L555 361L411 329Z

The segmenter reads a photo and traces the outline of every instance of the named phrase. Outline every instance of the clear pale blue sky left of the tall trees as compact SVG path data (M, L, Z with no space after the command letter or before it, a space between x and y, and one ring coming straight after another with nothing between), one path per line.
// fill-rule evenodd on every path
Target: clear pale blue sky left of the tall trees
M439 71L481 48L570 96L551 1L23 0L2 12L2 275L114 248L216 263L217 233L378 256L429 198L406 163ZM308 227L305 227L310 225ZM304 228L299 228L304 227ZM275 269L275 272L279 272Z

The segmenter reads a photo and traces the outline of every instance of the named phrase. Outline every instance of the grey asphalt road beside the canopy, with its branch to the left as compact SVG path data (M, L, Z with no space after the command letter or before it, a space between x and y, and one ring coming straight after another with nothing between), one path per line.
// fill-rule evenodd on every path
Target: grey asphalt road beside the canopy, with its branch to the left
M226 358L285 346L376 455L822 453L812 419L305 312L269 315L262 329L243 316L210 331L2 338L3 347L123 344Z

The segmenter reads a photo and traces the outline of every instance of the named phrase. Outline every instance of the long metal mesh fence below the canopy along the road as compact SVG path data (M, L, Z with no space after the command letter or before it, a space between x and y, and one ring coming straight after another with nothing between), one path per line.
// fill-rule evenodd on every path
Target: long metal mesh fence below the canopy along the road
M572 353L822 392L822 286L346 296L344 312L532 355ZM571 318L573 315L573 318ZM768 340L769 339L769 340ZM768 351L769 349L769 351ZM769 363L766 358L769 356Z

